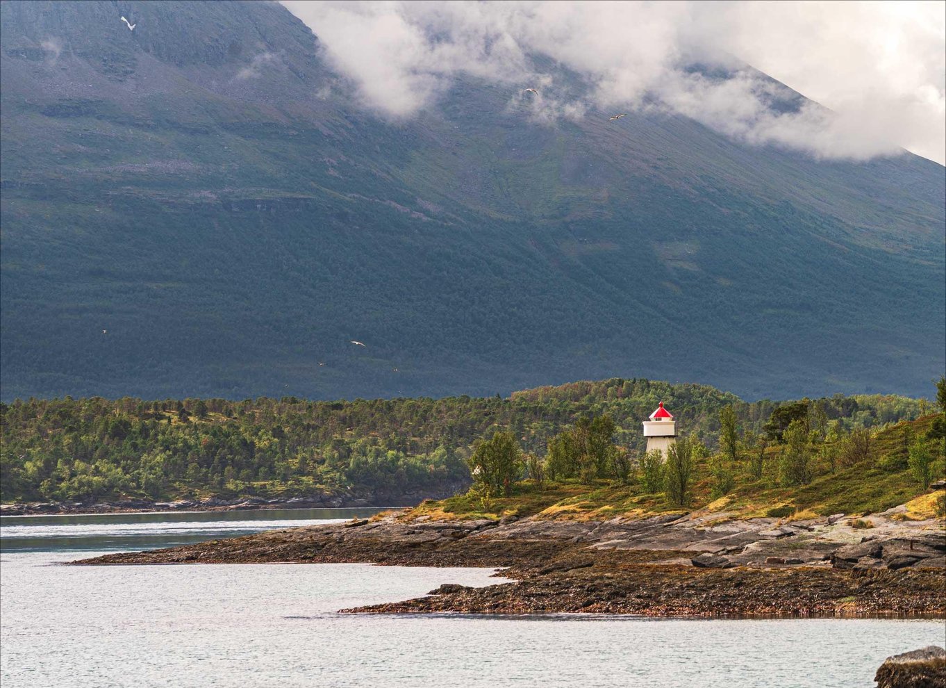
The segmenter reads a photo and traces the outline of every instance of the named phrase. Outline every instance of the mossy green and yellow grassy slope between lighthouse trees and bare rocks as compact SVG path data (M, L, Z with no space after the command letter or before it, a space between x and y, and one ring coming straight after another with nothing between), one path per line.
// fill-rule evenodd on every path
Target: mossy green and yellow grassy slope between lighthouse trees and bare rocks
M902 520L946 517L946 498L941 491L930 492L918 479L909 461L908 446L925 445L932 459L930 479L946 477L946 457L941 437L923 439L941 415L927 415L868 433L863 455L832 464L826 456L838 450L844 439L809 446L812 476L808 482L793 484L780 476L780 464L787 448L774 445L764 450L761 475L752 474L749 450L742 461L727 467L731 487L719 493L716 471L720 454L696 458L691 485L684 504L669 498L663 486L648 487L640 467L623 482L615 480L545 480L531 478L518 482L509 495L483 496L477 489L445 500L428 500L403 514L412 520L432 516L438 520L482 518L523 518L535 516L552 520L607 520L617 516L645 516L681 509L718 512L721 520L738 518L796 518L847 514L864 516L906 504ZM941 421L940 421L941 422ZM853 522L853 521L852 521ZM870 528L869 519L855 527Z

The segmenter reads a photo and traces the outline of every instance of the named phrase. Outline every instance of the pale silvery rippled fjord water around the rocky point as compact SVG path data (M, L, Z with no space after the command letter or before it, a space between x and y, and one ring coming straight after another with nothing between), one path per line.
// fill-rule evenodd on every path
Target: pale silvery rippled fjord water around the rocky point
M485 569L55 565L353 515L329 511L3 518L0 682L869 686L888 655L942 643L941 621L337 613L501 580Z

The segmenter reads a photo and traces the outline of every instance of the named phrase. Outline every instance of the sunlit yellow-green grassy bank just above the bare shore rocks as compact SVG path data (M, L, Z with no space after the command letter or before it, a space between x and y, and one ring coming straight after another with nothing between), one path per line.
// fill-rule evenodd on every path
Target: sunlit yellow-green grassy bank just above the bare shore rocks
M899 423L874 435L870 458L850 467L839 467L831 473L827 464L817 462L815 480L809 485L783 487L775 484L780 448L768 451L762 480L751 481L741 475L736 488L719 500L710 497L709 459L698 463L695 471L690 508L726 511L743 518L790 516L809 518L835 513L864 515L884 511L892 506L910 503L912 515L929 517L934 501L924 497L909 469L885 470L878 462L885 455L902 447L905 429L916 434L929 430L934 415L916 421ZM934 468L935 479L944 475L941 460ZM644 516L678 510L666 503L661 494L647 494L641 485L613 485L602 481L597 485L550 483L541 488L532 481L517 484L515 494L483 501L471 494L442 501L428 501L408 512L404 518L433 516L446 519L501 518L503 516L535 516L549 519L603 520L616 516Z

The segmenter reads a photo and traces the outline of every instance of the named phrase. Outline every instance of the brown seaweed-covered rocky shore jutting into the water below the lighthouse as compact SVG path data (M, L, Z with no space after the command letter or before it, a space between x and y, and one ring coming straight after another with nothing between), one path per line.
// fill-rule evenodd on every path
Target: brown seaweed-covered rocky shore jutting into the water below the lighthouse
M446 585L346 612L937 617L946 531L936 520L733 520L725 513L595 520L371 520L271 531L81 564L373 562L502 568L515 582Z

